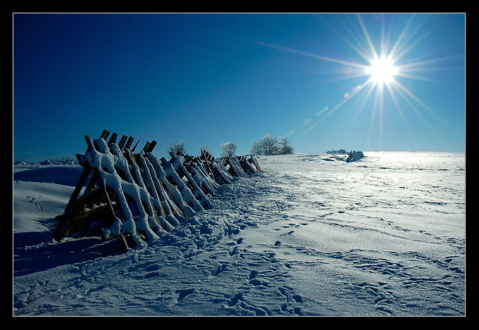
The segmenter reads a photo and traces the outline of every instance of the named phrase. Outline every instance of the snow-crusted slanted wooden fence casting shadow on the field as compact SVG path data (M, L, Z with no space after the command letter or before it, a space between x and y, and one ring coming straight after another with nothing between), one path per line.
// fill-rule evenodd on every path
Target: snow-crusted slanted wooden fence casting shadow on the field
M158 159L151 153L156 141L135 153L134 139L104 130L99 139L85 136L87 151L77 154L84 167L54 231L54 239L88 229L100 222L104 236L119 237L125 250L130 237L135 248L148 246L185 219L211 208L211 197L233 177L249 177L261 170L256 158L239 156L215 159L170 155Z

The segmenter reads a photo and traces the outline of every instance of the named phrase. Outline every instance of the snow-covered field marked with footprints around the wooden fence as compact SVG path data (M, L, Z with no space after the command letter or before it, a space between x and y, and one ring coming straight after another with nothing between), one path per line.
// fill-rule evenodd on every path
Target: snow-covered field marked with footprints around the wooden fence
M13 315L465 315L460 153L259 156L143 250L52 239L78 165L13 167Z

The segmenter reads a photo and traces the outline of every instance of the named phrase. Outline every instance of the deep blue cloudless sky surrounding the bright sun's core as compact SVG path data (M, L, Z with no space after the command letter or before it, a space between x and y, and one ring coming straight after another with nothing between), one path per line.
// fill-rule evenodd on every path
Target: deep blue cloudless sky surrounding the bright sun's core
M375 84L373 50L399 73ZM13 158L84 153L103 129L247 154L465 148L465 15L13 14Z

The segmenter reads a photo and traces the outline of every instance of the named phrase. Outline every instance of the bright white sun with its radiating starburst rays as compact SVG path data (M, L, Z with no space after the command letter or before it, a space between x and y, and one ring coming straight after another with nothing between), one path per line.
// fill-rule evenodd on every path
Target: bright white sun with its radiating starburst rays
M443 80L438 79L436 72L444 70L454 70L454 68L441 68L438 63L451 63L454 60L464 60L464 54L450 55L437 58L425 59L428 53L421 52L419 49L427 37L430 37L435 30L435 26L430 26L428 23L428 16L426 15L411 15L406 18L402 15L394 17L397 20L390 20L387 23L385 15L362 15L356 14L357 20L353 22L354 16L346 16L349 21L342 24L343 33L339 30L329 27L342 41L349 46L349 49L359 55L360 61L347 61L344 58L335 58L331 56L323 56L317 53L310 53L300 51L297 49L290 49L284 46L277 46L274 44L267 44L264 42L256 42L262 46L267 46L279 51L287 51L299 56L307 56L309 58L316 58L321 61L328 61L337 65L343 65L343 68L337 72L341 72L337 77L331 78L328 81L342 81L342 80L358 80L365 77L364 81L358 86L361 89L348 91L343 94L343 99L335 106L328 109L327 112L321 111L321 116L316 118L316 122L308 120L306 129L301 130L301 134L295 136L295 139L301 139L306 134L309 134L318 125L321 125L324 120L336 113L338 109L343 108L347 103L348 115L349 111L354 111L349 121L349 130L354 132L354 127L359 118L359 114L363 113L366 106L371 106L368 130L366 134L367 141L371 141L374 137L377 138L378 144L383 142L383 134L388 132L385 124L390 125L390 115L387 115L389 110L394 110L399 115L405 132L407 132L411 141L415 140L411 129L411 122L409 121L409 113L406 109L411 109L411 113L415 113L421 118L421 122L425 122L427 127L433 129L433 125L429 121L435 120L435 124L440 125L440 122L445 123L445 120L440 117L438 113L428 106L419 96L413 94L411 90L406 88L404 83L407 80L416 80L418 82L434 82L444 84ZM378 23L378 30L370 33L366 27L366 23ZM397 23L402 22L401 30L397 30ZM344 33L346 32L346 33ZM348 52L349 54L349 52ZM361 61L363 60L363 61ZM457 70L457 68L455 68ZM358 103L350 103L352 99L356 99L361 94L363 99L359 99ZM356 99L357 100L357 99ZM385 103L391 103L391 106L385 106ZM404 103L405 102L405 103ZM359 104L359 107L355 106ZM405 107L406 106L406 107ZM349 110L354 109L354 110ZM344 113L347 115L347 113ZM427 119L426 119L427 117ZM387 120L387 122L385 121ZM365 132L366 133L366 132ZM437 134L437 132L434 132ZM349 134L349 132L347 132Z

